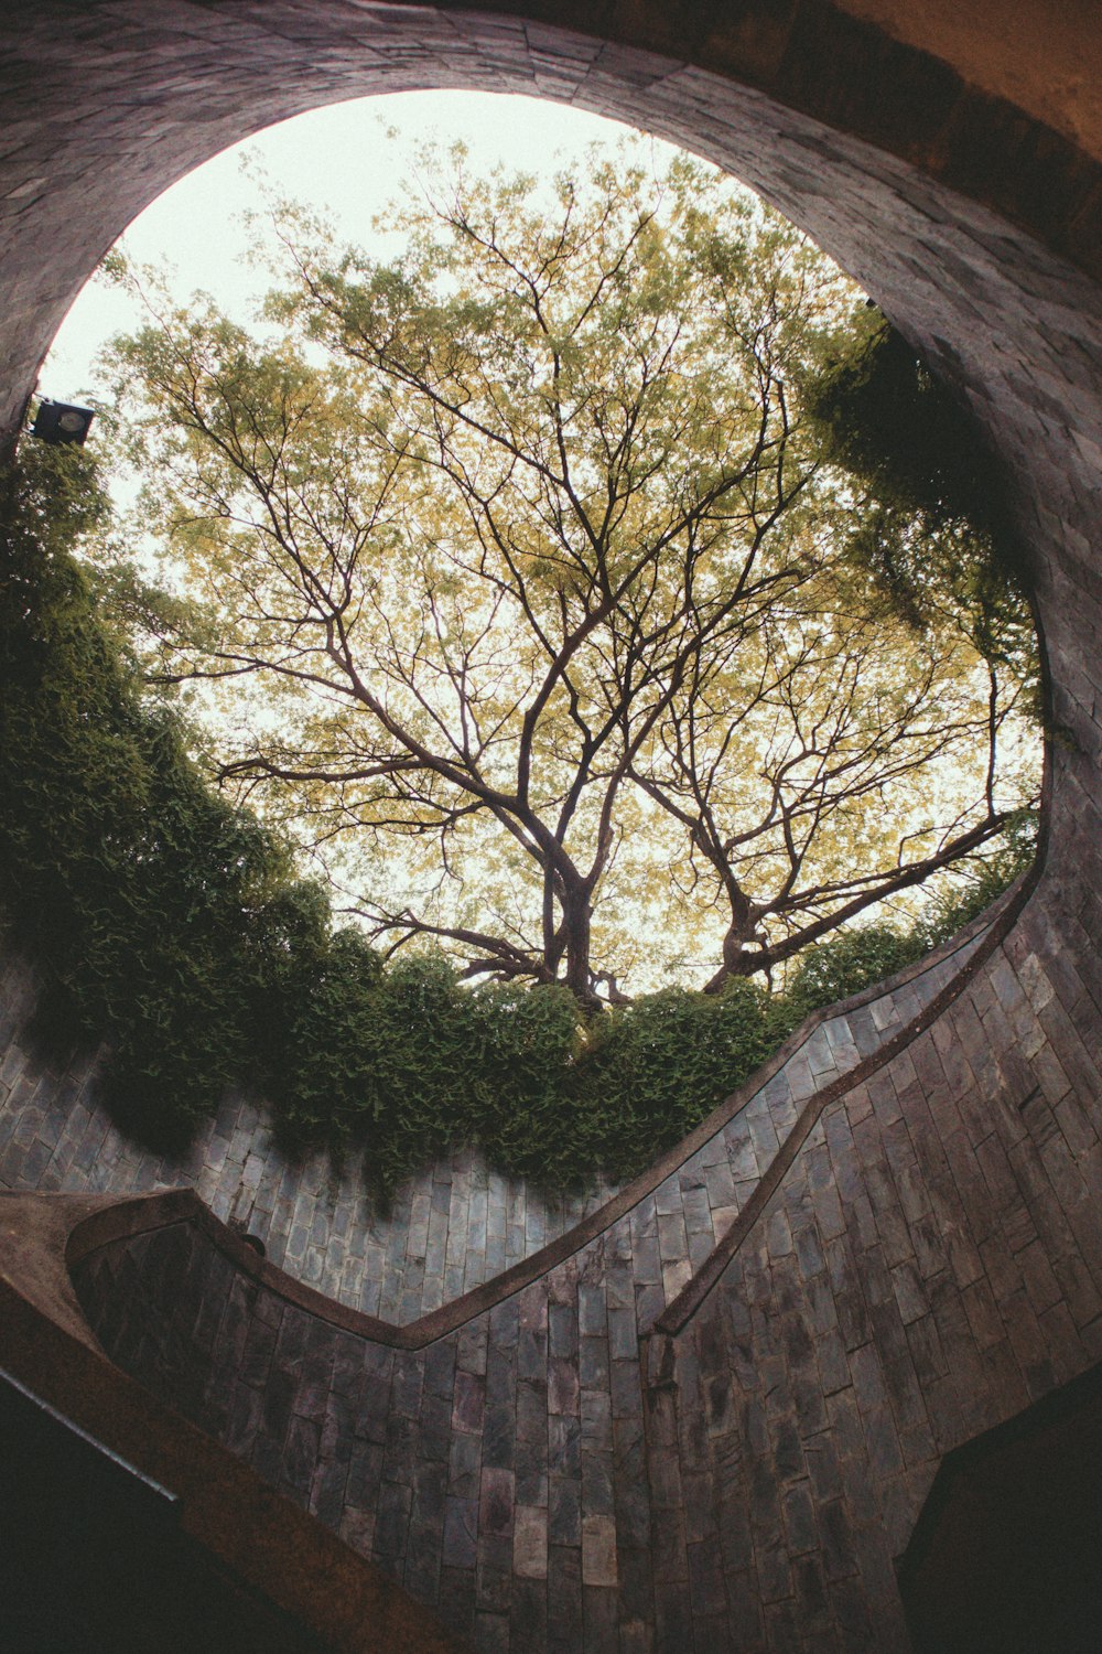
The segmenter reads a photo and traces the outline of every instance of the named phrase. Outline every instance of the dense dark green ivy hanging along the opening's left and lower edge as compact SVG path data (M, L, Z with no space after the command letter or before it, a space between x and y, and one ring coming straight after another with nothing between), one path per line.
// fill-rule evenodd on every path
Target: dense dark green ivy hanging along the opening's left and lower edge
M836 935L785 992L667 989L587 1024L562 987L471 989L443 958L383 968L144 696L68 551L102 509L79 450L0 475L0 908L43 982L36 1037L104 1039L102 1100L150 1146L182 1148L249 1085L289 1150L362 1156L382 1189L459 1143L549 1186L625 1179L810 1011L920 958L1033 853L1021 822L963 903Z

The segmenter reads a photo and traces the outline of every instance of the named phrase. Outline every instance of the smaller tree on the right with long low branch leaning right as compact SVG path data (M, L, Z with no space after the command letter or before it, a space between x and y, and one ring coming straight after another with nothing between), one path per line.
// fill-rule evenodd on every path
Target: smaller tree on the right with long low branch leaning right
M886 643L886 617L788 622L760 640L768 665L732 711L730 690L694 683L674 701L636 779L686 830L687 888L712 885L727 915L707 981L772 973L808 943L886 896L971 855L1013 817L1000 807L995 758L1018 695L991 668L988 723L958 676L963 648L927 633ZM970 665L970 662L967 663ZM943 819L910 814L886 834L894 789L930 784L938 762L980 741L990 789ZM735 761L737 759L737 761ZM760 789L747 799L742 779ZM887 853L886 853L887 852ZM894 853L892 853L894 852Z

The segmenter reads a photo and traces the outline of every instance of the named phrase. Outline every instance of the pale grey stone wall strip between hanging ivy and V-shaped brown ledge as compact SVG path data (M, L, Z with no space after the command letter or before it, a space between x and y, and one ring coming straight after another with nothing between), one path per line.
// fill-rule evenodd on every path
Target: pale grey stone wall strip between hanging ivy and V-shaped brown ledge
M96 1057L63 1072L36 1060L26 1037L35 1004L18 961L0 973L0 1188L145 1194L190 1184L226 1222L264 1242L268 1257L340 1303L408 1322L553 1240L611 1194L527 1188L466 1151L405 1183L387 1207L357 1164L325 1156L289 1164L268 1116L228 1097L182 1158L127 1141L96 1102Z

